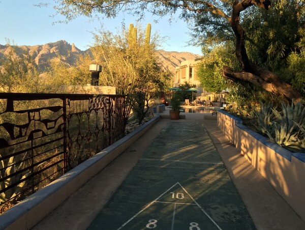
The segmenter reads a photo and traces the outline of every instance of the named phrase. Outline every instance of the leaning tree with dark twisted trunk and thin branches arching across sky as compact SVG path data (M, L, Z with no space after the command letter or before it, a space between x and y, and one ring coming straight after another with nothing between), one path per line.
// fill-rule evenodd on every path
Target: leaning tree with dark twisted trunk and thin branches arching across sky
M303 7L301 1L293 1L295 7ZM232 80L244 80L251 82L273 94L286 97L288 99L301 100L301 94L295 90L291 84L279 79L278 75L265 66L251 60L248 56L246 31L242 25L245 16L251 16L247 12L251 7L269 10L273 0L192 0L192 1L163 1L163 0L57 0L55 9L58 13L66 16L67 20L72 20L79 15L93 17L95 14L102 14L106 17L115 17L119 11L130 12L140 18L149 11L153 15L164 16L173 14L178 9L180 17L184 19L195 19L205 17L207 24L198 28L202 33L217 32L218 41L222 41L234 36L235 54L240 64L239 71L233 71L229 67L223 68L223 76ZM303 17L303 12L296 15ZM263 19L263 18L262 18ZM263 20L262 20L263 21ZM229 27L228 27L229 26ZM247 26L247 25L246 25ZM211 30L207 30L211 28Z

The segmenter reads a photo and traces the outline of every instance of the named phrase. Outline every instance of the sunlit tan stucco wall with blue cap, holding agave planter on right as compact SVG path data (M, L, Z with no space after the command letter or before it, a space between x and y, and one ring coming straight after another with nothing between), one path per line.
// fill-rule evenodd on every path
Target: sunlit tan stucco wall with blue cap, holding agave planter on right
M218 127L240 153L305 220L305 153L292 153L219 110Z

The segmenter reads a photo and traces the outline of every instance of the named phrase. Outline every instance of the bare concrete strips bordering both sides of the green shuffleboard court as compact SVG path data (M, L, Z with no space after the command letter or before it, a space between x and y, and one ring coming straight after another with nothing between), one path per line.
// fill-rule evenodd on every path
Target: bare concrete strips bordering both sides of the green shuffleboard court
M36 225L34 229L86 229L93 222L98 213L107 209L105 206L107 200L111 198L119 185L123 183L130 171L142 157L143 153L147 150L148 146L153 143L155 138L159 136L162 129L169 122L172 121L161 119L124 154L115 159L109 166L101 171L100 174L74 193L62 206L54 210L47 218ZM247 207L256 228L305 229L305 223L260 176L260 174L239 155L236 149L230 145L228 140L224 138L222 133L217 129L216 120L203 120L202 114L193 113L186 114L185 120L178 120L175 122L180 124L181 122L194 122L196 124L199 122L204 124L210 138L214 142L214 146L223 159L243 203ZM167 187L171 188L171 186L171 184L168 184ZM184 184L182 183L181 187L183 186ZM163 187L166 186L164 185ZM166 188L164 190L169 191ZM180 195L176 198L181 198L181 191L171 192L174 195L179 193ZM103 209L103 207L105 207L105 209ZM130 215L133 216L134 214L130 213ZM149 223L152 224L149 226L154 226L154 224L156 224L156 222L154 222L155 219L151 218L149 220L151 220ZM193 221L191 223L193 225L188 226L194 226L193 228L196 229L195 225L197 222ZM214 224L214 226L216 225ZM100 226L100 229L108 228ZM223 227L223 229L226 228Z

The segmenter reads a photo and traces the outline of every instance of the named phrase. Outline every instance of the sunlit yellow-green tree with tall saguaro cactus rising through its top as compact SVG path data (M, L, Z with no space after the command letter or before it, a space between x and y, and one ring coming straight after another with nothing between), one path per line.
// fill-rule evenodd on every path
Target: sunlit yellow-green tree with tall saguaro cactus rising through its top
M170 79L158 65L158 35L150 36L150 28L150 24L146 30L130 24L117 34L102 30L95 35L96 44L91 49L94 62L103 66L101 83L114 86L117 94L127 95L127 118L133 109L139 123L151 100L165 91Z

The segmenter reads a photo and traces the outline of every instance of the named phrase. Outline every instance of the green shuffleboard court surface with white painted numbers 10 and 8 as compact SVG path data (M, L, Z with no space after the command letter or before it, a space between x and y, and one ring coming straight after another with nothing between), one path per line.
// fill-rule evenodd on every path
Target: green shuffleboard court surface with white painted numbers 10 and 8
M255 229L202 123L169 122L88 229Z

